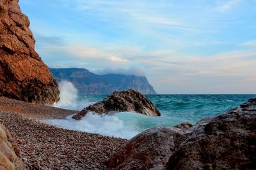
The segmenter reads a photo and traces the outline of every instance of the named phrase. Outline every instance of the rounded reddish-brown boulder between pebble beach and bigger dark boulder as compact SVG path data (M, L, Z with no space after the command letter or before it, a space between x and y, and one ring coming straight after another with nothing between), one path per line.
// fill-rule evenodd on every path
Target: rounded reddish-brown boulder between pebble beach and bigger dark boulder
M171 127L155 127L132 138L111 156L109 169L164 169L177 145L183 141L182 131Z

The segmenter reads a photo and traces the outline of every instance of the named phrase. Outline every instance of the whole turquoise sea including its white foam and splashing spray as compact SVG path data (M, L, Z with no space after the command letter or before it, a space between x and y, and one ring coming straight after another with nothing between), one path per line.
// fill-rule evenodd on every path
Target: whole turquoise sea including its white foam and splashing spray
M60 83L60 102L53 106L70 110L82 110L90 104L102 101L107 95L78 94L70 82ZM72 115L61 120L42 120L75 131L102 134L116 138L131 139L152 127L173 127L182 122L195 124L206 117L216 117L246 102L253 94L157 94L147 96L161 112L161 117L148 117L138 113L120 112L113 115L89 113L82 120Z

